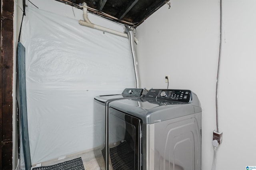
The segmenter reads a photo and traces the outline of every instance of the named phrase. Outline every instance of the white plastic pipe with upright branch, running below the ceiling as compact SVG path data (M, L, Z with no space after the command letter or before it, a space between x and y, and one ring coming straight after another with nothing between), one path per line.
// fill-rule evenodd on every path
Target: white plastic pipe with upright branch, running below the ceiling
M128 38L128 35L125 34L125 33L118 32L118 31L115 31L115 30L111 30L111 29L106 28L106 27L98 26L96 24L92 24L90 22L90 20L88 19L87 7L86 6L87 6L87 4L85 2L83 2L83 17L84 17L84 21L83 20L79 20L78 23L80 25L87 26L87 27L90 27L90 28L95 28L95 29L100 30L100 31L104 31L104 32L108 32L108 33L111 33L111 34L115 34L115 35L121 36L121 37ZM139 42L136 37L134 37L134 42L136 44L138 44L138 42Z

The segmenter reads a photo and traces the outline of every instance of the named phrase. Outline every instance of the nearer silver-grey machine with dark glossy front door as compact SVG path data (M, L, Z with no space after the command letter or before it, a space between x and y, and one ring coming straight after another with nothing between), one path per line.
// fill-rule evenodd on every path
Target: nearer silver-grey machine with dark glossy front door
M200 101L190 90L150 89L109 103L108 157L114 170L201 170Z

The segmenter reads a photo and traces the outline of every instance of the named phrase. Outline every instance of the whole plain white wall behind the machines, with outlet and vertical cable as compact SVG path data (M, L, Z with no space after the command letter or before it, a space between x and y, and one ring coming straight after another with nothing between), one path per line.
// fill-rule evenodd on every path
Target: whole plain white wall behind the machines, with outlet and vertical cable
M202 170L212 167L220 1L171 0L137 28L142 87L191 89L202 105ZM223 0L216 170L255 166L256 1Z

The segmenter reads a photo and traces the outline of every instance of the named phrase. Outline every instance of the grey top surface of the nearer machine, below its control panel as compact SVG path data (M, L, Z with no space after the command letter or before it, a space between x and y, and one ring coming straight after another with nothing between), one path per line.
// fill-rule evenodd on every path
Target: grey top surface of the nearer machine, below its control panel
M150 98L130 98L112 101L111 111L121 111L142 120L144 124L158 123L177 117L202 112L198 98L194 93L190 102L170 101ZM194 98L193 98L194 97ZM193 103L193 100L195 103Z

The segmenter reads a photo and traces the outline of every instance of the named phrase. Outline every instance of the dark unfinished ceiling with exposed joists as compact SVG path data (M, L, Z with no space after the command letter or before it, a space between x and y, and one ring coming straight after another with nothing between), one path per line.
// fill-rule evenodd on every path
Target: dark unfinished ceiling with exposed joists
M139 26L169 0L57 0L81 8L86 2L89 12L126 26ZM170 5L169 5L170 6ZM91 9L93 8L93 9ZM82 9L82 8L81 8Z

